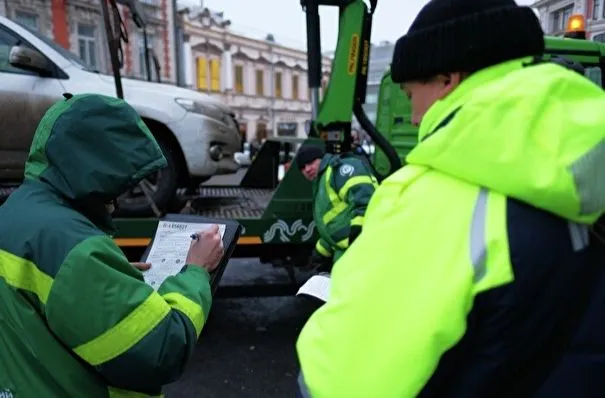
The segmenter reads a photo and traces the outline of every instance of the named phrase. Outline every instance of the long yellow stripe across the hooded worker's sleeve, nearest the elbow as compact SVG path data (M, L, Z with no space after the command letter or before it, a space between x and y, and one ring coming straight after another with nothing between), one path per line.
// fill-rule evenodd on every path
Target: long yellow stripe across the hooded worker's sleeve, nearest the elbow
M170 312L164 299L153 292L127 317L74 352L93 366L107 362L137 344Z

